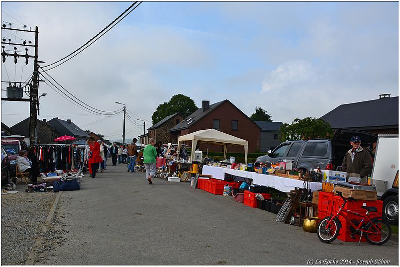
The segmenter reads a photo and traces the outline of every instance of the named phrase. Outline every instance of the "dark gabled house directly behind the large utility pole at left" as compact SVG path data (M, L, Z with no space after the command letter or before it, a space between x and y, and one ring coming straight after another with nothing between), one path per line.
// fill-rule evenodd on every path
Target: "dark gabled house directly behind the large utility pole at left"
M26 118L23 121L18 122L14 126L12 126L10 129L20 133L23 136L29 136L29 119ZM36 120L37 124L37 144L57 144L54 139L60 136L60 133L51 127L49 124L46 123L46 119Z

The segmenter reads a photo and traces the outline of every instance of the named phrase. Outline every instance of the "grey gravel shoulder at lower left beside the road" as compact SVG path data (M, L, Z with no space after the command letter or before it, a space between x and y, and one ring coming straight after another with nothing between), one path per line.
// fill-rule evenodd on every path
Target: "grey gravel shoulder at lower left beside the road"
M26 193L26 184L17 184L15 194L1 195L1 265L22 265L57 193Z

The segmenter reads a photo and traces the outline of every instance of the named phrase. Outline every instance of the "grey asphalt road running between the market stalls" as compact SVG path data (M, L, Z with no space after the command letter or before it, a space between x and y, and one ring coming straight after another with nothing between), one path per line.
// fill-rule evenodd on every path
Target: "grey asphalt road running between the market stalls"
M46 264L307 265L310 259L343 259L355 265L384 259L399 265L399 245L392 240L383 246L324 244L232 197L183 182L154 179L149 185L143 173L127 173L126 165L107 169L83 178L81 190L63 192L54 227L63 229L65 242L52 248Z

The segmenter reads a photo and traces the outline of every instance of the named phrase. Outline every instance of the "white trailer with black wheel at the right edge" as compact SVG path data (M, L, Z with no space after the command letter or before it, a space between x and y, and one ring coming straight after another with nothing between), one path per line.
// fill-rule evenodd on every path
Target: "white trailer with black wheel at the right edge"
M399 134L379 134L372 169L372 183L384 201L383 216L399 221Z

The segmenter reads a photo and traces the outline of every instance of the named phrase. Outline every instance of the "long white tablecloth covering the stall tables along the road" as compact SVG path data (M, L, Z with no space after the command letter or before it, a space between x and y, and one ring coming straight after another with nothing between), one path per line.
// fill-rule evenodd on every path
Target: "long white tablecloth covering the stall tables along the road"
M284 178L274 175L263 175L252 172L238 171L233 169L213 167L205 165L203 166L203 175L210 175L212 178L224 180L225 174L235 175L239 177L252 178L253 184L269 186L278 189L282 192L289 192L294 190L295 187L304 188L304 181L292 178ZM310 182L310 188L312 191L316 191L322 188L321 182Z

